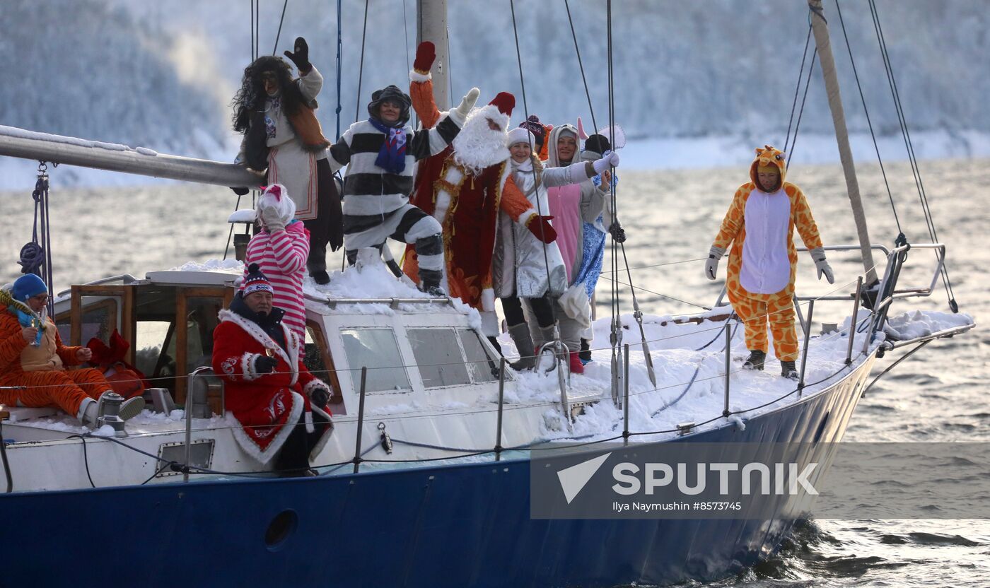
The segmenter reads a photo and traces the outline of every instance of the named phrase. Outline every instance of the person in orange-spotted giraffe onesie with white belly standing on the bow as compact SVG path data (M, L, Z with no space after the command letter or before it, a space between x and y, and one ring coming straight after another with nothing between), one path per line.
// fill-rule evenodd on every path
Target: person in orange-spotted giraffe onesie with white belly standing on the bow
M736 190L722 228L709 251L705 275L714 280L719 259L729 245L726 288L733 309L743 320L747 369L763 369L766 358L766 323L773 333L773 352L784 377L798 377L794 361L798 337L794 327L794 277L798 253L794 229L810 250L818 278L835 283L825 259L822 238L804 192L784 181L787 167L780 149L756 148L749 166L749 180Z

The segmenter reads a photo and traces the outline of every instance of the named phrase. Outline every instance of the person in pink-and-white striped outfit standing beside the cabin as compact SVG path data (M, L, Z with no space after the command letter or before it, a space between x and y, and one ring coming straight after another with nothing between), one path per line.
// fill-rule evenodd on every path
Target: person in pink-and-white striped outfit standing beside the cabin
M262 188L257 200L257 220L261 231L247 244L245 271L257 263L274 288L273 303L285 311L282 323L306 341L306 309L303 303L303 278L309 255L309 231L295 219L296 204L285 186L271 184ZM300 353L303 345L299 346Z

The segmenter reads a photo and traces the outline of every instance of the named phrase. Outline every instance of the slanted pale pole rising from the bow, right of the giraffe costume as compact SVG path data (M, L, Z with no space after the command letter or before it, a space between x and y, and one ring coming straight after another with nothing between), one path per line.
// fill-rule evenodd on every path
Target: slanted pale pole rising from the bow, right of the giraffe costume
M839 78L836 75L836 60L832 56L832 44L829 41L829 25L825 20L825 12L822 10L822 0L808 0L808 7L812 11L811 25L812 31L815 33L815 46L818 48L818 58L822 64L822 77L825 79L825 91L829 96L832 124L836 128L839 158L842 162L842 172L845 174L845 188L849 195L849 204L852 206L852 218L856 223L859 250L862 255L863 269L866 272L865 284L868 287L879 280L876 277L876 267L873 263L873 251L870 249L866 216L863 213L862 200L859 198L859 182L856 181L856 167L852 161L852 149L849 147L849 134L845 128L845 113L842 110Z

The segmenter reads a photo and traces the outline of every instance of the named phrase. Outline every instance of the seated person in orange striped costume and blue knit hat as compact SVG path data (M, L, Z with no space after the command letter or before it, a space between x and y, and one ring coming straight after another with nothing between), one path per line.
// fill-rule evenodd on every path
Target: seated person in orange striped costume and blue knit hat
M0 386L25 386L0 390L0 403L40 408L57 406L86 427L95 428L102 414L100 397L112 392L98 369L66 370L92 358L89 347L61 343L58 329L48 316L49 289L42 278L25 274L14 282L0 306ZM120 407L124 421L145 408L140 396Z

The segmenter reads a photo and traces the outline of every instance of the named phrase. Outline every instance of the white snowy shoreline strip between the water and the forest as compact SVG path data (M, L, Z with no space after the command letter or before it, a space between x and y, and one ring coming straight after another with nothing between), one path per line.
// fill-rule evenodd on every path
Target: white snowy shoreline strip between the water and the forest
M873 163L876 151L868 134L849 137L857 163ZM766 143L782 143L782 138L719 136L697 138L631 139L622 149L622 168L627 170L707 169L748 165L752 148ZM903 161L907 151L900 135L877 139L884 161ZM926 131L912 135L919 159L990 157L990 133L978 131ZM125 146L120 146L127 148ZM182 153L172 153L182 155ZM818 165L839 163L839 149L832 135L802 134L791 149L793 163ZM228 161L231 153L213 153L213 158ZM31 190L35 186L38 162L14 157L0 157L0 191ZM130 175L101 169L49 165L52 187L94 188L145 186L178 183L142 175Z

